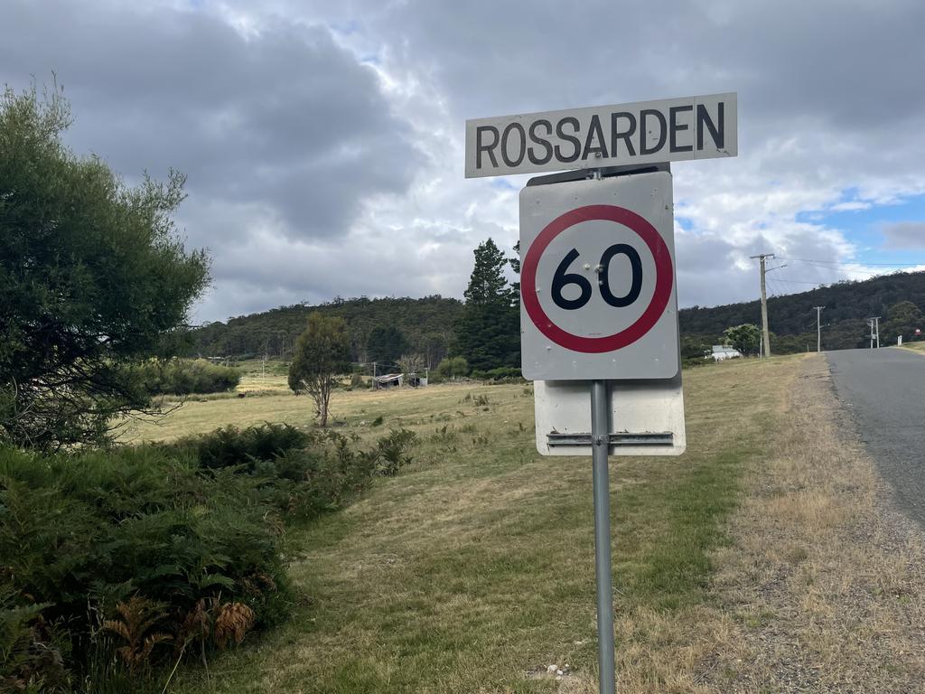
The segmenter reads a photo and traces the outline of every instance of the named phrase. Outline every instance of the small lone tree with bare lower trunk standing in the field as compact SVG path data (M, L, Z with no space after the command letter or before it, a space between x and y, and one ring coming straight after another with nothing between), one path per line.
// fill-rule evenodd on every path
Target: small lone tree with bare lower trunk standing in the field
M350 333L343 318L313 313L308 327L295 342L290 364L289 386L297 395L307 392L322 427L327 427L331 391L337 377L350 371Z

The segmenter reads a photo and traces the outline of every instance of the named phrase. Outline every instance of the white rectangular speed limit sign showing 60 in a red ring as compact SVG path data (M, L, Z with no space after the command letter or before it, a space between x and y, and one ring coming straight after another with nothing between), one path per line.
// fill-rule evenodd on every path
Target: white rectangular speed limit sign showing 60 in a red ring
M671 174L527 186L520 208L524 378L675 376Z

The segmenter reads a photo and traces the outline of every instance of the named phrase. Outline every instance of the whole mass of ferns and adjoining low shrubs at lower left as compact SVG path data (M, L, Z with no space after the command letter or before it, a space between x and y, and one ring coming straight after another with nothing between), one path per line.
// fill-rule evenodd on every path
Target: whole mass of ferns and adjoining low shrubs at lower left
M0 689L136 691L153 663L285 619L283 519L342 507L416 440L400 428L358 451L265 424L71 456L0 448Z

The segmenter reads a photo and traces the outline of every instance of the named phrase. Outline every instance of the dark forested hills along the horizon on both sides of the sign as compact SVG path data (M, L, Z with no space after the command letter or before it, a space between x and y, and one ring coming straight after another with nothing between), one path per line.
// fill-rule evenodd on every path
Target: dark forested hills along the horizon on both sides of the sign
M799 294L775 296L768 300L775 353L804 352L816 344L816 313L813 306L825 306L822 313L824 349L849 349L865 343L867 318L882 316L886 322L889 307L909 301L925 306L925 273L897 273L860 282L839 282ZM251 316L230 318L227 323L211 323L191 333L191 354L202 356L255 357L267 354L285 359L292 342L305 327L312 311L340 316L351 330L353 359L367 361L367 346L375 328L397 328L413 353L425 355L435 366L450 352L453 329L462 302L441 296L423 299L336 299L320 305L280 306ZM716 343L722 331L742 323L760 324L759 301L727 304L712 308L682 309L681 334L692 353L702 345ZM925 325L922 326L925 328ZM885 332L882 330L885 336Z

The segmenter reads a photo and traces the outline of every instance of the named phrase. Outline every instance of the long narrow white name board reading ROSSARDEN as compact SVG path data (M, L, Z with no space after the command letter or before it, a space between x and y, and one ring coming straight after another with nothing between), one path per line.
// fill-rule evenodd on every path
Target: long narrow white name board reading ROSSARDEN
M735 93L591 106L465 124L465 176L735 156Z

